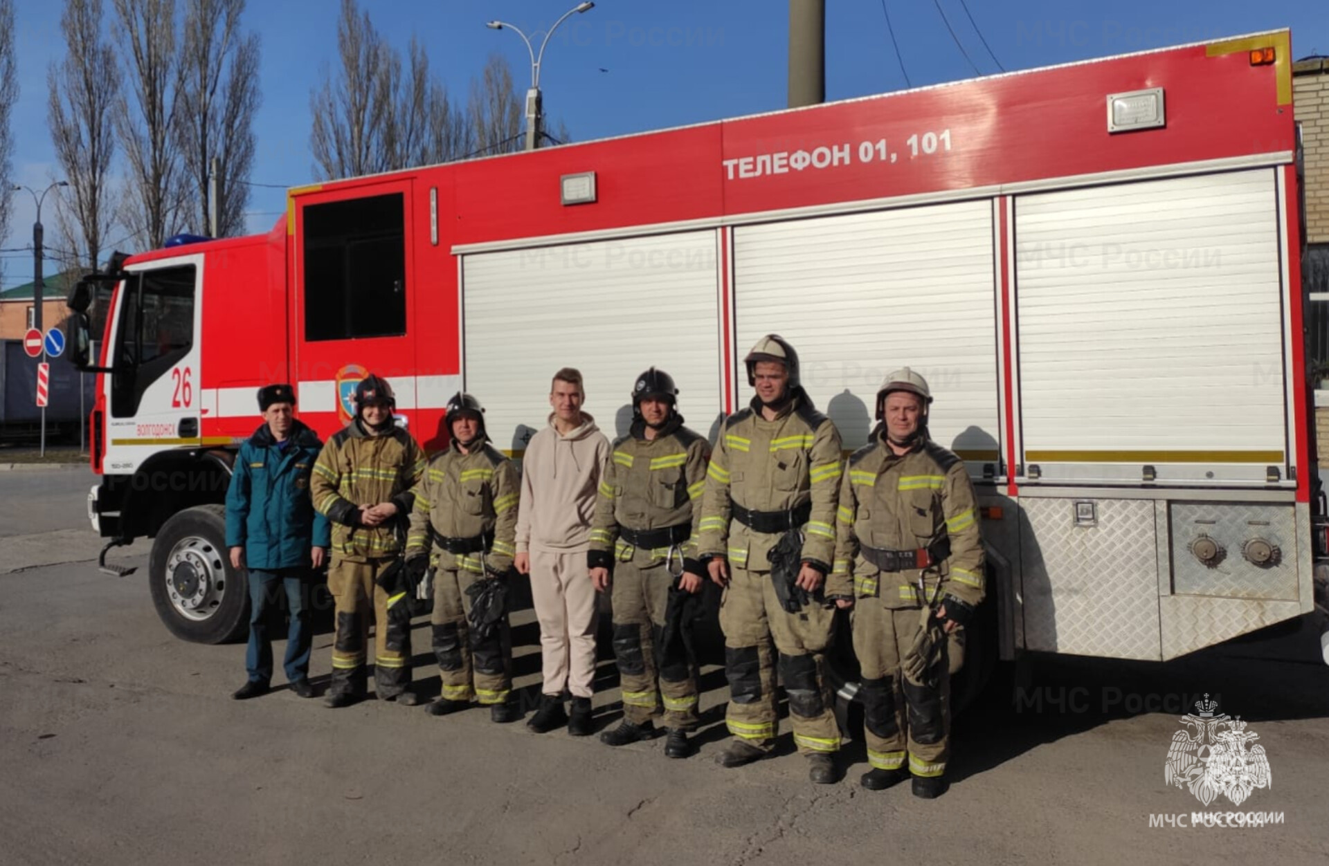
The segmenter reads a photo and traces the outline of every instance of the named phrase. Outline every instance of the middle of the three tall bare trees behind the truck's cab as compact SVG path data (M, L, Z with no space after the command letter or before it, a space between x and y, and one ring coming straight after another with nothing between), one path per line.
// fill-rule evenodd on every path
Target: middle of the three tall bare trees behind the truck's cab
M114 0L117 45L128 56L130 110L122 93L116 110L129 159L121 209L126 227L149 247L161 247L181 224L183 171L175 113L181 64L175 44L175 0Z

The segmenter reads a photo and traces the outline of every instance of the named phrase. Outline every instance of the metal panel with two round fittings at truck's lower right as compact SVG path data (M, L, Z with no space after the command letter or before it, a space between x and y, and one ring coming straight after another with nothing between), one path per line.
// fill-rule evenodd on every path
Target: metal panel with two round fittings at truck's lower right
M1172 592L1296 600L1296 511L1288 505L1174 502ZM1261 545L1261 542L1265 542ZM1272 555L1256 564L1252 557ZM1208 564L1196 553L1208 555Z

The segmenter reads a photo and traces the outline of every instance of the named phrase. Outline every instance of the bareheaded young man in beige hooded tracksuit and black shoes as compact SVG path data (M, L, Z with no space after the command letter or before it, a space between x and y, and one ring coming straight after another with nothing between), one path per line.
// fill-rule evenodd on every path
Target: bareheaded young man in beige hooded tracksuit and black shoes
M530 575L540 620L544 688L526 724L538 733L567 723L567 733L590 733L595 679L595 586L586 566L595 495L610 456L609 438L582 412L582 376L563 368L549 393L549 426L530 438L522 457L514 566ZM571 695L571 719L563 689Z

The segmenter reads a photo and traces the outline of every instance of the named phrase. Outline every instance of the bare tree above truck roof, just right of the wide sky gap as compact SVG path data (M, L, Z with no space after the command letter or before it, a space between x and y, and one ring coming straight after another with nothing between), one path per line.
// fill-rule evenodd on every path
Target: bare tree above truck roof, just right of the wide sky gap
M310 149L316 177L332 179L389 169L384 129L391 122L392 78L400 74L400 58L393 72L391 53L368 12L360 13L355 0L342 0L340 73L334 84L324 70L322 88L310 96Z

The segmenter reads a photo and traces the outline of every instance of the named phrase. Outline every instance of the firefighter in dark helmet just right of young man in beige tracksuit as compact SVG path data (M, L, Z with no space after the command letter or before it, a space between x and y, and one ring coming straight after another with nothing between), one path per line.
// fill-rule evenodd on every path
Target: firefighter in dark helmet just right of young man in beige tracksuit
M613 444L599 482L586 555L597 591L613 580L614 657L623 692L623 721L601 740L617 746L653 737L663 696L664 754L682 758L690 753L687 733L698 725L690 652L696 603L679 592L700 600L706 568L696 559L696 527L711 448L683 426L668 373L653 367L638 376L631 401L631 428ZM676 638L666 640L668 612Z

